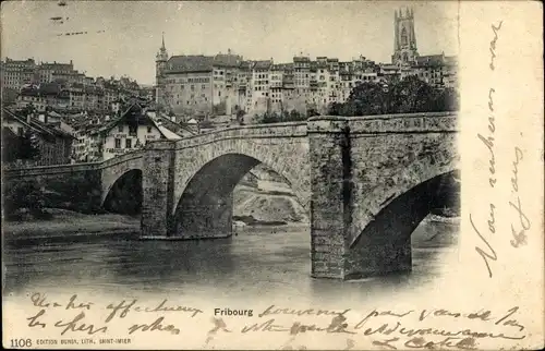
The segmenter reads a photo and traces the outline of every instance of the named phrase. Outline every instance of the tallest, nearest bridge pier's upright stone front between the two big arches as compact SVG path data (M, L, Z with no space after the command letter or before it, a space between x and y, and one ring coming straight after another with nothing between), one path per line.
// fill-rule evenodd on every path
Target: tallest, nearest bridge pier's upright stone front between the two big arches
M308 122L311 158L311 275L344 278L350 221L350 135L343 118Z

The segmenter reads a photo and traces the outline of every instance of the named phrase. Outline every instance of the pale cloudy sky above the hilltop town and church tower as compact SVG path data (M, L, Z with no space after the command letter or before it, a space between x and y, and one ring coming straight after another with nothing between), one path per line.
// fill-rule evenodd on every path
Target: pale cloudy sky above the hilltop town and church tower
M414 11L420 55L458 53L456 1L65 2L3 1L2 60L72 60L89 76L128 75L154 84L155 56L165 32L171 56L231 49L244 59L272 58L277 63L301 52L313 59L362 55L390 62L393 11L407 5ZM61 35L74 32L87 34Z

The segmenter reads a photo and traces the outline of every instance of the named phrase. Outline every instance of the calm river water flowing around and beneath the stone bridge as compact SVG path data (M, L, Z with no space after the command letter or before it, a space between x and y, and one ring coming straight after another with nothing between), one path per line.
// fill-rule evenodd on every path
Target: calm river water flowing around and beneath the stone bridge
M227 299L278 294L360 299L433 280L445 266L441 258L456 250L457 232L457 225L423 222L413 233L412 273L348 282L311 278L310 233L304 226L246 227L230 239L206 241L97 237L9 244L4 251L5 292L73 287L89 292Z

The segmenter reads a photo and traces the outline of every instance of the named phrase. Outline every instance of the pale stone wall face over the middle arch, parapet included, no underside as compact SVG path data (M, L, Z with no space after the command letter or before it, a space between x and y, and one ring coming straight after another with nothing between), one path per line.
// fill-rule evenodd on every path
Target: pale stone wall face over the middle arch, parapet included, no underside
M190 180L206 164L233 154L256 159L282 175L308 208L311 169L305 122L230 128L185 137L177 141L174 147L177 203Z

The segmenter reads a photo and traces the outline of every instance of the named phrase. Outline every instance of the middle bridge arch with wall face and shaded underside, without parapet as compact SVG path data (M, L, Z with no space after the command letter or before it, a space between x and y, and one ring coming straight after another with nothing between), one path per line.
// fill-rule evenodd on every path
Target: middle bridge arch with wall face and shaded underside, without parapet
M231 233L232 191L255 166L263 164L290 185L298 202L310 209L310 162L306 137L219 138L177 150L173 235L198 238ZM213 225L214 223L214 225ZM225 234L219 234L223 233Z

